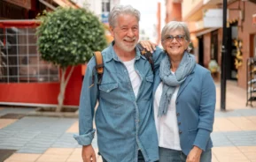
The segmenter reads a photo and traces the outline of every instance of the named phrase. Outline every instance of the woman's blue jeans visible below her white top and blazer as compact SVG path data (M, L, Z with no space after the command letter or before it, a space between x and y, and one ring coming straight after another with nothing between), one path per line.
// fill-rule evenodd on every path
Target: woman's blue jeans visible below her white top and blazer
M182 151L175 151L159 147L159 162L186 162L187 156ZM212 150L204 151L201 154L200 162L211 162Z

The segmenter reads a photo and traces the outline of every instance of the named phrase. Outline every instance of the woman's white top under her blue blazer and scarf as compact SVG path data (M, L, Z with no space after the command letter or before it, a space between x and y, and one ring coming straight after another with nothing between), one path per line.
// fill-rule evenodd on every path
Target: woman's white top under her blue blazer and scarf
M154 117L159 137L159 147L182 151L180 145L179 129L176 117L176 98L179 86L175 88L171 102L168 106L167 114L158 117L159 103L163 91L163 83L161 82L156 90L154 97Z

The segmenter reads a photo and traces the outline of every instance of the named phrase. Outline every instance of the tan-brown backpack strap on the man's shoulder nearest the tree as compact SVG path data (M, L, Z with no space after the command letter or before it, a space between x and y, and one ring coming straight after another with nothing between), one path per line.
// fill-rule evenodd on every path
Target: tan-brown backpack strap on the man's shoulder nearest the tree
M95 69L97 70L97 85L100 85L102 81L103 72L104 72L103 57L101 55L101 52L99 51L94 52L94 57L96 62Z

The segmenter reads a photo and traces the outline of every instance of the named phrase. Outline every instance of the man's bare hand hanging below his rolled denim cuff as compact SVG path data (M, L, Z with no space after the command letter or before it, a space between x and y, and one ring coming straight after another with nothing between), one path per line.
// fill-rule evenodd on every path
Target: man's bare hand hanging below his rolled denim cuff
M81 158L83 162L97 162L95 151L91 144L82 146Z

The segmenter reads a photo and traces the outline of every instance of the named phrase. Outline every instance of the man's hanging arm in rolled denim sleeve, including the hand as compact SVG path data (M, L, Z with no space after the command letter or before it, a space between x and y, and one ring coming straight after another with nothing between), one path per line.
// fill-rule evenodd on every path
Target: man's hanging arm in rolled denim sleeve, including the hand
M95 152L91 146L95 134L95 129L93 129L93 117L97 103L97 72L94 71L94 67L95 59L92 58L88 63L81 87L79 136L74 135L78 144L83 146L82 158L84 162L90 161L90 158L95 159Z

